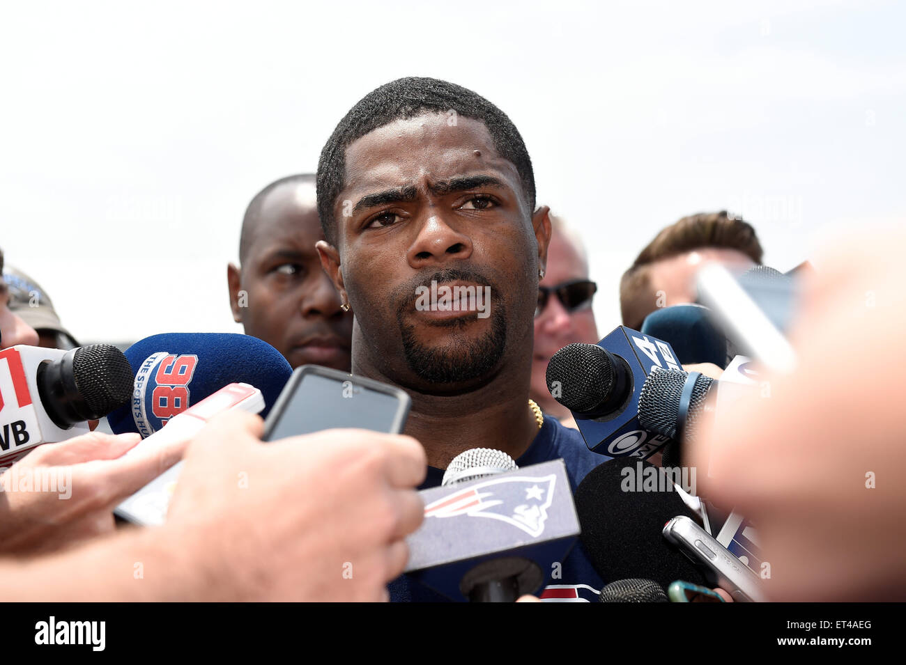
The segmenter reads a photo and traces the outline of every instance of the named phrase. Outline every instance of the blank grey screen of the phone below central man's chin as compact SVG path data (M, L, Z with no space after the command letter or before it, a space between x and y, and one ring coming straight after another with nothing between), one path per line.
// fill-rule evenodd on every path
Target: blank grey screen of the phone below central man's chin
M333 427L356 427L375 432L395 431L400 399L381 393L354 379L306 374L298 383L286 407L277 415L268 441L297 434L320 432Z

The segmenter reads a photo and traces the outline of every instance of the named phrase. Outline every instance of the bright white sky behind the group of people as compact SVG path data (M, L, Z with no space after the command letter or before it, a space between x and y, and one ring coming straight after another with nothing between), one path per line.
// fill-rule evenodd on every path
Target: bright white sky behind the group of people
M686 214L787 270L906 219L894 3L16 3L0 12L0 247L82 340L241 332L226 262L264 185L314 171L367 92L433 76L516 123L588 244L601 334ZM882 242L879 240L879 242Z

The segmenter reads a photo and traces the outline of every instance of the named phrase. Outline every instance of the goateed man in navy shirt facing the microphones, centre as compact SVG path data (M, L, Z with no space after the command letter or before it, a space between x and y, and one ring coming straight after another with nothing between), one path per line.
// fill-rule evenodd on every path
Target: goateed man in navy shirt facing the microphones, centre
M520 466L563 458L573 489L608 459L528 399L551 222L500 109L446 81L383 85L323 147L317 200L321 262L355 315L352 372L410 394L405 432L428 456L423 487L470 448ZM560 563L542 596L591 600L601 580L582 547ZM390 597L441 600L405 576Z

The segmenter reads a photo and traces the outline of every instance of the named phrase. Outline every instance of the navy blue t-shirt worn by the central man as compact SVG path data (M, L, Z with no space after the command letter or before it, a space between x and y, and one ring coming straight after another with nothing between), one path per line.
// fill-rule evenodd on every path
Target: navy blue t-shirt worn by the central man
M564 427L555 418L545 415L545 424L535 436L535 441L528 447L516 464L522 468L543 461L563 459L566 474L575 493L576 487L585 475L602 461L610 460L607 455L599 455L588 450L582 434L578 430ZM419 489L439 487L443 480L444 470L428 467L428 477ZM550 579L540 594L545 601L597 601L601 592L602 580L594 572L592 564L585 556L582 543L576 541L563 561L561 579ZM400 575L387 586L390 601L393 603L444 603L449 599L421 584L409 575Z

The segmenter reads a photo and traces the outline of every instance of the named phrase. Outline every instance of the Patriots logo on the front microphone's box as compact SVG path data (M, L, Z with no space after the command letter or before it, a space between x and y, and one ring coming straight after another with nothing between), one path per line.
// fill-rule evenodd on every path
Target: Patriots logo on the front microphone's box
M499 519L538 537L544 533L547 508L554 501L554 480L554 474L486 480L429 503L425 517Z

